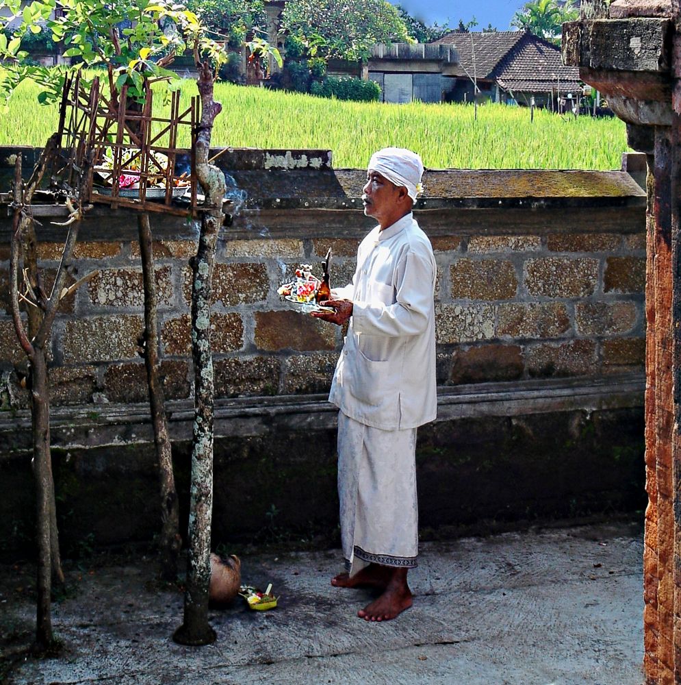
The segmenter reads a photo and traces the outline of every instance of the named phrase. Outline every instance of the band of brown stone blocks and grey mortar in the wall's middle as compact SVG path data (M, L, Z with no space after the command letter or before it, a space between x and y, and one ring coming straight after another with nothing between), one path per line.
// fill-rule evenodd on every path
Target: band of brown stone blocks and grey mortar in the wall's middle
M424 228L428 229L426 221ZM334 253L332 284L355 269L357 238L226 240L214 275L212 345L219 397L328 390L342 331L300 314L277 286L300 262ZM601 375L642 369L645 324L642 234L433 238L438 264L440 384ZM162 355L168 399L190 396L191 240L155 244ZM40 245L56 269L61 245ZM6 255L4 256L6 259ZM55 404L144 401L138 351L142 270L136 242L77 247L79 274L98 273L69 299L53 337ZM21 364L0 263L0 357ZM25 397L16 390L18 406ZM22 399L23 398L23 399Z

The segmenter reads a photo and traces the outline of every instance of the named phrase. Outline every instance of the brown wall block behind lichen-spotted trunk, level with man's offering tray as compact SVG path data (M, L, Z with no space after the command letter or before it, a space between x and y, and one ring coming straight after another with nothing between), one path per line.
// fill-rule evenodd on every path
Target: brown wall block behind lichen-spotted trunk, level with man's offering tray
M278 284L277 284L278 285ZM266 299L272 288L265 264L238 262L215 265L211 303L225 307L251 304ZM192 270L183 270L182 292L186 303L192 301Z

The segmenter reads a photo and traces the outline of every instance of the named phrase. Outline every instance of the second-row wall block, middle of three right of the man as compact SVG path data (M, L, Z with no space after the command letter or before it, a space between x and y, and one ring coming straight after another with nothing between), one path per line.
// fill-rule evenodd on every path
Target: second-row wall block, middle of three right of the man
M530 295L587 297L598 283L598 260L562 257L530 259L525 263L525 287Z

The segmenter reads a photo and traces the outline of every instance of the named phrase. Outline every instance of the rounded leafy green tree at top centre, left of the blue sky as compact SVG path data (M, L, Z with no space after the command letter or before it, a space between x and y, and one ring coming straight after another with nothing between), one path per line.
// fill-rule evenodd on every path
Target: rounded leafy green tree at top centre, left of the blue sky
M409 40L398 10L386 0L289 0L281 26L316 41L311 57L365 61L375 43Z

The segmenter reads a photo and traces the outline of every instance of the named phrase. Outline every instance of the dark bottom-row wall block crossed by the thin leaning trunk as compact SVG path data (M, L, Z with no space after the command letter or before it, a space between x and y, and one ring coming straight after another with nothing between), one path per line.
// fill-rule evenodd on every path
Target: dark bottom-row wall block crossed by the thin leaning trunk
M190 396L189 366L179 360L164 360L160 369L165 399L185 399ZM144 361L112 364L104 372L103 392L110 402L149 401Z

